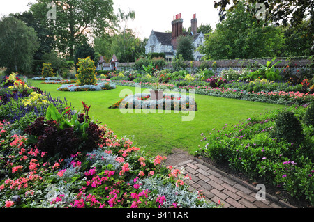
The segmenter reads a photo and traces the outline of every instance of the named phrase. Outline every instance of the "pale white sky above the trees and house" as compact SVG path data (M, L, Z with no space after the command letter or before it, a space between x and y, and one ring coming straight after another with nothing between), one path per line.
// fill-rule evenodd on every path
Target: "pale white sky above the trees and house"
M127 22L137 37L149 38L152 30L171 31L173 16L181 13L183 26L188 29L193 14L197 17L197 26L211 24L214 29L219 21L218 9L214 8L214 0L113 0L114 11L121 8L124 12L135 11L135 19ZM36 0L0 0L0 16L10 13L22 13L29 10L27 4Z

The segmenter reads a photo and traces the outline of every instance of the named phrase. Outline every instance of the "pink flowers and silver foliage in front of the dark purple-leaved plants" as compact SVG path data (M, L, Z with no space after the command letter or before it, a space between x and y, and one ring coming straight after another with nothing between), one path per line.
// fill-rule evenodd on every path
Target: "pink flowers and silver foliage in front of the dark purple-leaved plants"
M188 191L188 175L165 166L165 157L146 157L105 125L98 148L64 159L11 137L8 122L1 127L0 154L8 153L0 159L2 207L217 207Z

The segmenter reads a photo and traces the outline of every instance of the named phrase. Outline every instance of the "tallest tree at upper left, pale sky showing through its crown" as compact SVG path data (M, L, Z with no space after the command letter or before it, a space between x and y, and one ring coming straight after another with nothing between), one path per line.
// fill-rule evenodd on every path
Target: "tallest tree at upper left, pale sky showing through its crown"
M52 29L59 53L71 60L76 44L88 35L100 35L116 22L112 0L37 0L31 11Z

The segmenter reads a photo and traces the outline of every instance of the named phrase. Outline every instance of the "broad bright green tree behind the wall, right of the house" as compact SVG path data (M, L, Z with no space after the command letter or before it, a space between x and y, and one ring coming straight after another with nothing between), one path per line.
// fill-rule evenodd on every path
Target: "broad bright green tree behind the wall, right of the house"
M257 22L246 5L227 12L216 30L206 35L201 51L211 59L260 58L281 54L284 38L279 29Z

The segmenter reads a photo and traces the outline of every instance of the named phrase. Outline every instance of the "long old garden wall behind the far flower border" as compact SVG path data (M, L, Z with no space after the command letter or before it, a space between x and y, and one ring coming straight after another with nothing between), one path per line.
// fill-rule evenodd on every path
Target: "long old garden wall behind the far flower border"
M258 68L260 65L266 65L268 61L271 61L272 58L255 58L255 59L226 59L226 60L217 60L217 61L193 61L193 68L199 68L200 65L206 64L209 69L220 73L223 70L234 69L241 70L242 68ZM281 61L275 68L283 69L289 65L292 72L295 72L298 69L306 68L306 65L310 64L311 61L306 58L276 58L276 60L271 63L274 64L277 61ZM190 61L185 62L187 65L186 70L190 71ZM117 70L130 70L133 69L135 63L117 63ZM164 69L171 69L172 64L168 63ZM104 70L110 70L109 63L104 64Z

